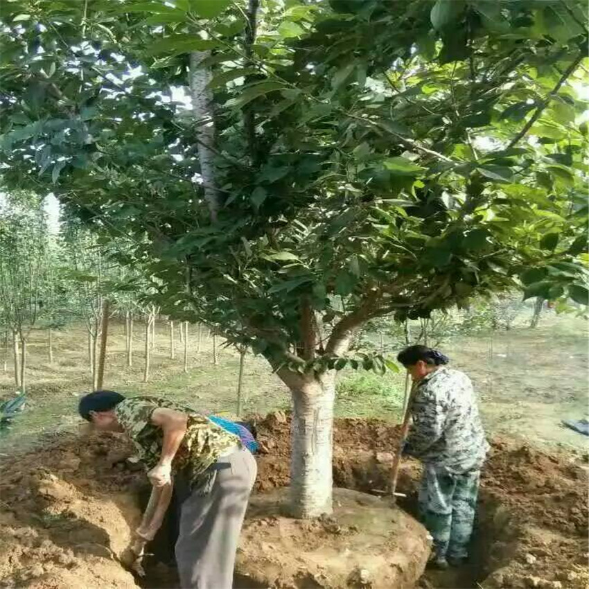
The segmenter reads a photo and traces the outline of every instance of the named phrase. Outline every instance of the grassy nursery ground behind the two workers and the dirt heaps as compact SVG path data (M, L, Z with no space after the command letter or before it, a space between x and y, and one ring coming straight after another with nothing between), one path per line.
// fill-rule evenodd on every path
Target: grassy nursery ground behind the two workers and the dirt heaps
M127 367L123 326L112 326L107 354L105 388L123 394L170 396L197 410L234 416L239 368L237 353L220 349L219 365L212 362L212 342L203 337L197 351L192 328L188 373L183 371L182 344L177 335L175 360L170 360L168 326L157 325L152 370L143 383L143 331L134 337L134 364ZM80 423L78 399L90 388L87 335L83 326L55 334L55 362L47 358L46 334L34 333L29 345L28 403L0 451L28 447L42 434L74 430ZM460 337L443 346L452 365L463 369L475 383L487 430L522 437L538 444L565 444L586 448L586 438L560 427L561 419L580 419L587 410L587 326L573 317L547 315L536 330ZM0 399L14 394L12 362L1 371ZM337 416L380 417L397 421L403 403L405 374L344 371L337 385ZM290 408L290 395L263 358L247 356L244 378L247 414Z

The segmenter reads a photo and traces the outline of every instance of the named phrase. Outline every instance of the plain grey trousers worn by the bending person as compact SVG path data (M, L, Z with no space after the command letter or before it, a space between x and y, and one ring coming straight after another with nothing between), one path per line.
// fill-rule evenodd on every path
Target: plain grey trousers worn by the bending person
M182 589L231 589L239 534L256 480L248 450L220 458L206 495L198 490L182 503L175 553Z

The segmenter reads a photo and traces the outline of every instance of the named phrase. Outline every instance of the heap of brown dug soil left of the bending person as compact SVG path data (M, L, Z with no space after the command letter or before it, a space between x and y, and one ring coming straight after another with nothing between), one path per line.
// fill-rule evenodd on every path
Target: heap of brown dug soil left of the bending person
M137 588L121 567L140 511L130 447L112 434L49 439L0 469L0 579L34 589ZM131 490L131 492L130 492Z

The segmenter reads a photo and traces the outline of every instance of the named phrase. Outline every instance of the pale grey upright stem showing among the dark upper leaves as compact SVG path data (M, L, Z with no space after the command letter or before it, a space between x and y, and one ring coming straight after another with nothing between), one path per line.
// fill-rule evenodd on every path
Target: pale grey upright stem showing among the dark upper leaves
M202 61L210 55L210 51L191 52L188 86L190 87L192 112L195 119L195 136L204 200L209 207L211 221L214 223L217 220L219 210L219 196L214 164L215 122L213 118L213 93L209 88L211 71L201 65Z

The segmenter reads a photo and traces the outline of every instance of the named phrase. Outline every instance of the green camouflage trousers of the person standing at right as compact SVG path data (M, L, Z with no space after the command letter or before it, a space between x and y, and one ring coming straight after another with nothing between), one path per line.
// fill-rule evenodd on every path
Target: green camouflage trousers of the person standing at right
M468 556L473 534L480 471L452 475L445 469L423 465L419 489L421 521L434 538L437 558Z

